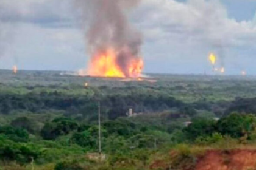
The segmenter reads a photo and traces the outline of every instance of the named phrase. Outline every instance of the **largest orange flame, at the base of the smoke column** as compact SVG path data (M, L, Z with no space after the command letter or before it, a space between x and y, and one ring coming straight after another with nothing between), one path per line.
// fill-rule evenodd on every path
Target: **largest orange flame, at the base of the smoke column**
M143 70L143 60L133 58L126 61L126 68L121 68L116 60L116 53L108 49L105 53L99 53L91 59L88 75L99 77L133 77L141 76Z

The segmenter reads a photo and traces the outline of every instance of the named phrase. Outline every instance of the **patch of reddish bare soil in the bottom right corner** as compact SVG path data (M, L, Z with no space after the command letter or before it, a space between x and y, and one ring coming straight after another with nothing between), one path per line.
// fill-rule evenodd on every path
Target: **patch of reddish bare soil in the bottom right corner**
M207 151L197 161L196 170L254 170L256 150Z

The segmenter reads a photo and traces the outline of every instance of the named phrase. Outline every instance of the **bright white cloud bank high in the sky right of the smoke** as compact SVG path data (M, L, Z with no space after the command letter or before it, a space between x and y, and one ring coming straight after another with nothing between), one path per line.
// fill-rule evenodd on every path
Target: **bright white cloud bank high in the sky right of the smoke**
M143 15L138 25L151 40L185 38L211 46L241 46L256 39L255 22L228 18L219 1L146 0L139 12Z

